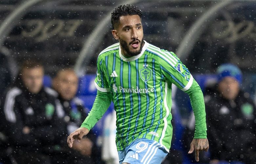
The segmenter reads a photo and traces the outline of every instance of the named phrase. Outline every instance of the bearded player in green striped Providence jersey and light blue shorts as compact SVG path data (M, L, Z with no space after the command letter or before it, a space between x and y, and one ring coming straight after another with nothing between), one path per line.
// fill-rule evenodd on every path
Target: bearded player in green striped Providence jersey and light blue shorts
M173 53L143 40L142 13L121 5L111 16L112 34L119 43L104 49L97 59L97 96L89 116L68 137L80 141L114 102L116 144L120 164L161 163L171 146L171 85L188 93L196 118L191 149L208 151L203 93L188 69Z

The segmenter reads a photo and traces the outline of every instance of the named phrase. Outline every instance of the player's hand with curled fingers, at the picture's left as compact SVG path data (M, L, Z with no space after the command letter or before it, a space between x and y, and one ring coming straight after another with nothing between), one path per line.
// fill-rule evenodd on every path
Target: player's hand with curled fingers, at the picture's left
M74 140L77 139L78 142L81 141L84 135L87 135L89 133L89 130L87 128L78 128L75 130L75 132L72 132L68 137L68 145L70 148L72 148Z

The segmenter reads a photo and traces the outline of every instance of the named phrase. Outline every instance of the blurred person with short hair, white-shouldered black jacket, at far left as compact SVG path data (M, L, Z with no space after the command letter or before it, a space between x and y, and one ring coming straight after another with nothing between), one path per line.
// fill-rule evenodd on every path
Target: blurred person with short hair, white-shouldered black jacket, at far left
M4 98L1 124L8 148L3 152L11 163L51 163L50 154L63 135L64 111L51 89L42 86L43 75L40 63L25 61Z

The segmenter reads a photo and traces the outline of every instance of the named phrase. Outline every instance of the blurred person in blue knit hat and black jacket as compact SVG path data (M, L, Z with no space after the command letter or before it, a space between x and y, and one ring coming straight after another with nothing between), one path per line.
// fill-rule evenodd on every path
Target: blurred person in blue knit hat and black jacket
M221 160L255 163L255 104L250 95L240 89L241 70L235 65L223 64L216 72L218 82L208 86L204 96L210 163Z

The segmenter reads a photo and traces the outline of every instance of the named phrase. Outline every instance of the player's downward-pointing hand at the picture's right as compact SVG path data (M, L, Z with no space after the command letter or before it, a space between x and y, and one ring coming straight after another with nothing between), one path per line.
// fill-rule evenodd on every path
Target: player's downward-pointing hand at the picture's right
M207 138L194 138L190 144L190 150L188 154L191 154L195 150L195 159L199 161L199 152L205 151L207 152L209 149L209 142Z

